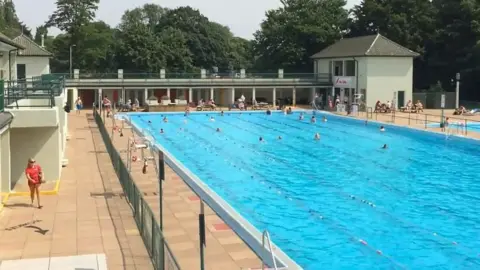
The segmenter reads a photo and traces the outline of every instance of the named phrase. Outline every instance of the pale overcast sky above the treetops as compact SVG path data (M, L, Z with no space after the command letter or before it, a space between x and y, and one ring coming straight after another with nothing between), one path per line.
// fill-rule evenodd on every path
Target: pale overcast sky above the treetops
M359 4L361 0L347 0L347 7ZM28 27L43 24L55 9L55 0L13 0L17 14ZM280 6L280 0L100 0L97 19L116 26L127 9L154 3L163 7L175 8L191 6L199 9L210 20L227 25L240 37L252 38L265 18L265 11ZM57 34L58 30L50 30Z

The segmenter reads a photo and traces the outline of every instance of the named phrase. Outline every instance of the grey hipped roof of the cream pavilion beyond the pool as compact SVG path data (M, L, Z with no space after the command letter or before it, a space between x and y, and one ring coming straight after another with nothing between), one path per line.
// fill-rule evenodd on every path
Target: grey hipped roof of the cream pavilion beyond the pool
M376 34L345 38L312 55L311 58L341 58L354 56L395 56L416 57L418 53L409 50L388 38Z

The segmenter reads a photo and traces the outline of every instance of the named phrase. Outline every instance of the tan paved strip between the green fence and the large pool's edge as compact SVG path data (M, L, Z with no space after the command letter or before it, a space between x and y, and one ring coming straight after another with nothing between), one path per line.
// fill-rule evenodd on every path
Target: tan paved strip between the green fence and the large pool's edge
M106 124L111 132L113 123L107 119ZM122 126L121 121L117 121ZM124 129L124 136L115 133L114 145L123 152L122 158L126 159L128 138L132 137L132 129ZM140 155L140 153L137 153ZM149 155L149 154L147 154ZM139 157L141 158L141 157ZM157 159L158 160L158 159ZM150 162L147 174L142 173L143 162L132 165L132 176L139 189L144 193L144 198L150 205L159 220L158 178L153 164ZM182 269L200 269L199 253L199 228L198 214L200 199L185 184L185 182L168 166L166 167L166 181L163 184L164 235L173 254ZM205 205L206 219L206 269L234 270L234 269L260 269L262 266L258 256L243 242L232 229Z

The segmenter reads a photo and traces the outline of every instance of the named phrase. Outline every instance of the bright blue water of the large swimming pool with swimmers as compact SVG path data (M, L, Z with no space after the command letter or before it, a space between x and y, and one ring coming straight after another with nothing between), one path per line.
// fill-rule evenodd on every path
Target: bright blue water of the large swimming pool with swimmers
M480 269L478 142L298 116L131 120L305 269Z

